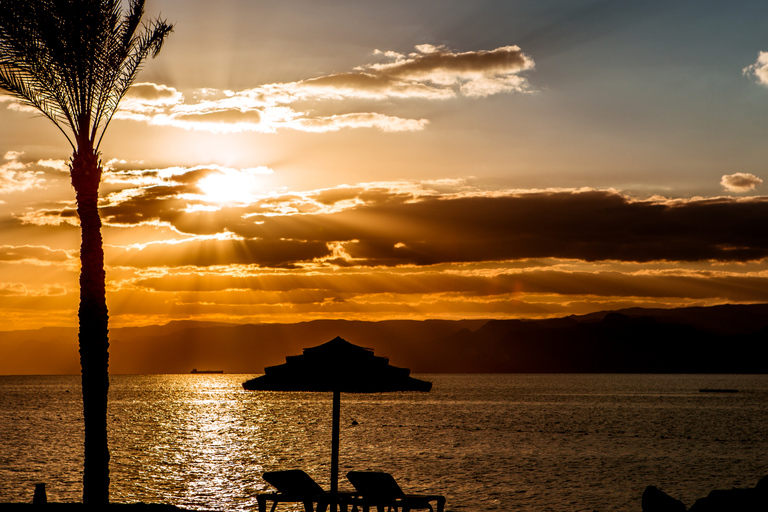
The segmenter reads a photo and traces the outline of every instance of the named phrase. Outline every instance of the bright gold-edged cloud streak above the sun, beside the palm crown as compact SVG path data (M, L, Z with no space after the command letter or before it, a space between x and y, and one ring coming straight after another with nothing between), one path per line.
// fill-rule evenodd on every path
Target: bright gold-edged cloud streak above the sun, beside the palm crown
M242 91L205 89L190 99L171 87L141 83L129 90L115 117L219 133L418 131L429 120L385 114L379 111L381 102L386 100L391 108L398 100L482 98L531 89L520 73L533 69L534 63L517 46L455 52L424 44L407 55L378 50L374 55L383 62ZM372 102L364 107L367 110L357 110L361 100ZM352 108L350 101L356 102Z

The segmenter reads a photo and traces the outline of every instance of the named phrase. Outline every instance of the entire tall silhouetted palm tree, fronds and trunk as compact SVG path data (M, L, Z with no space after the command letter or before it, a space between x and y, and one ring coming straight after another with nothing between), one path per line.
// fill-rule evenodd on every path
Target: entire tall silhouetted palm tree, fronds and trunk
M144 0L0 0L0 88L50 119L72 146L80 217L83 502L109 502L109 337L99 145L120 100L173 26L142 23Z

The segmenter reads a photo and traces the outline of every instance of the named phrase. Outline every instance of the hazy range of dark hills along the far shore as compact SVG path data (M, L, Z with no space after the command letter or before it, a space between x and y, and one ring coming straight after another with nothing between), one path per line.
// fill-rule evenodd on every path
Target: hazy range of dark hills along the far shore
M259 374L341 336L414 373L768 373L768 304L546 320L170 322L110 331L110 371ZM0 332L0 374L79 373L77 329Z

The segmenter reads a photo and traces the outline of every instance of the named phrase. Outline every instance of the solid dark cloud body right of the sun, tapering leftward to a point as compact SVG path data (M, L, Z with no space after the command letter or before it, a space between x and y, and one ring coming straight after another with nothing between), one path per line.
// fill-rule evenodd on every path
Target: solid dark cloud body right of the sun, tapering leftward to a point
M251 219L249 219L251 220ZM768 200L632 201L604 192L428 197L327 215L254 217L247 238L342 242L362 265L520 258L746 261L768 256Z

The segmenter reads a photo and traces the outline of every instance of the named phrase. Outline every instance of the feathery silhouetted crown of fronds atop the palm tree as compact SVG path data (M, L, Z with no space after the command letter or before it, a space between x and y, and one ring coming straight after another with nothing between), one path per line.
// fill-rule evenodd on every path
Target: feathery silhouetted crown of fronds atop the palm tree
M0 88L73 147L97 151L141 65L173 30L142 24L144 5L131 0L123 16L119 0L0 0Z

